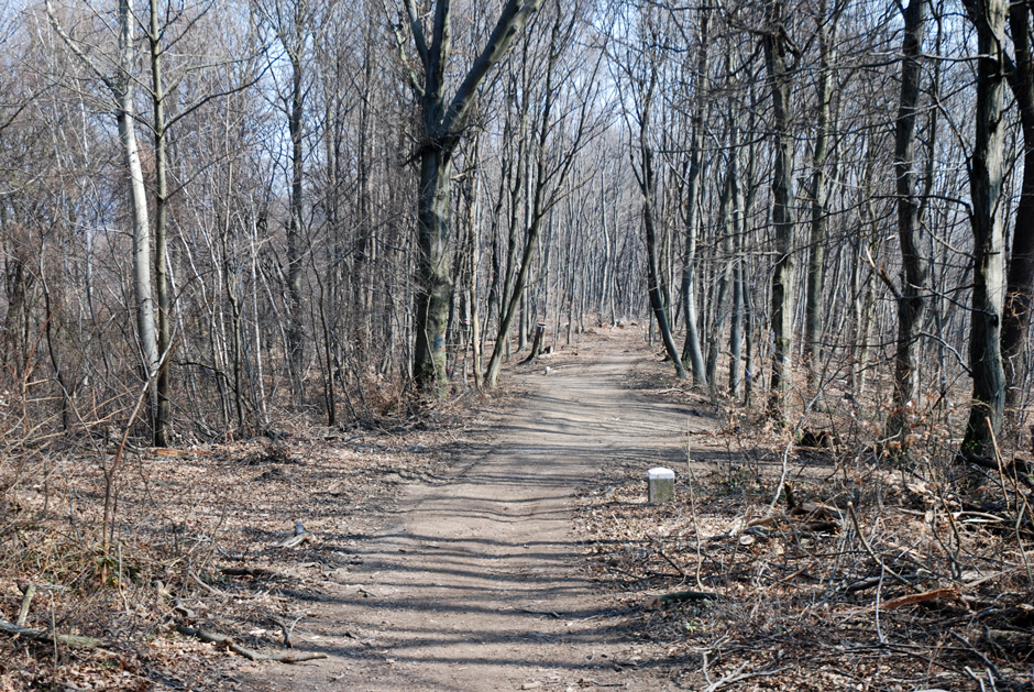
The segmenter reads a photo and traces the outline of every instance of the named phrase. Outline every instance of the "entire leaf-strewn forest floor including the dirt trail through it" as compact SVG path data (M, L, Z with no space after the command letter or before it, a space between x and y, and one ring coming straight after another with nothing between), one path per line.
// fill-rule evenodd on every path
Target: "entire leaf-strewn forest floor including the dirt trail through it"
M118 554L42 524L0 546L0 623L55 583L26 626L102 640L0 635L0 690L1034 689L1031 536L975 504L993 488L888 471L864 425L717 407L635 329L507 377L353 433L140 453ZM12 506L89 525L96 469L52 476Z

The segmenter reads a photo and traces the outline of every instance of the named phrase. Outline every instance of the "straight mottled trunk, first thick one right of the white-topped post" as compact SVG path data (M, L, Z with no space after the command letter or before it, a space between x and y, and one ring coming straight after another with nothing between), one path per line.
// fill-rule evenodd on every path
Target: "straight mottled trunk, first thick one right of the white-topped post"
M769 416L782 421L783 404L792 377L793 336L793 139L790 136L792 83L787 65L787 36L782 26L783 3L766 6L768 31L763 37L765 66L772 94L776 162L772 171L772 226L776 228L776 270L772 272L772 383Z

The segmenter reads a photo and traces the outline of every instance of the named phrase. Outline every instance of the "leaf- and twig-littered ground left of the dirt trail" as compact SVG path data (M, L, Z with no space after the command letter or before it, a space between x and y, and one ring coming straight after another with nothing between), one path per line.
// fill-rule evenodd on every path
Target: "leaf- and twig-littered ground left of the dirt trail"
M38 482L4 495L4 518L24 520L0 536L0 620L16 620L31 583L24 627L100 645L55 650L0 635L0 691L242 689L238 657L175 625L287 650L285 638L327 580L346 575L399 486L449 477L450 461L483 443L512 397L505 388L470 395L365 429L131 451L111 486L107 551L101 460L47 459ZM109 469L111 459L102 460ZM305 540L293 545L298 526Z

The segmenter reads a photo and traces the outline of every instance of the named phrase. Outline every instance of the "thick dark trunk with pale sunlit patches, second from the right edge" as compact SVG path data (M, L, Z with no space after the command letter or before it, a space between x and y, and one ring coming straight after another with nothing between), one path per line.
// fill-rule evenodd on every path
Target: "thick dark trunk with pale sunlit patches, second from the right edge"
M969 171L972 199L974 292L969 334L969 364L974 377L969 425L963 453L992 459L1005 405L1001 320L1004 303L1004 232L1002 209L1002 146L1004 92L1005 0L967 2L977 29L977 133Z

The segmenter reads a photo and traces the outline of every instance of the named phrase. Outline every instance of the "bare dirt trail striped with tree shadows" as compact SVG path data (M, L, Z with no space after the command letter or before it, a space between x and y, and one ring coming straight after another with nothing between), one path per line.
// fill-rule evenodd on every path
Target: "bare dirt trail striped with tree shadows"
M407 486L362 562L309 608L296 646L329 658L235 677L297 692L669 689L650 666L663 651L625 630L571 528L575 493L608 458L641 459L645 477L698 420L628 388L644 358L615 332L548 374L512 375L526 395L490 451L448 483Z

